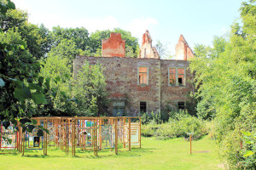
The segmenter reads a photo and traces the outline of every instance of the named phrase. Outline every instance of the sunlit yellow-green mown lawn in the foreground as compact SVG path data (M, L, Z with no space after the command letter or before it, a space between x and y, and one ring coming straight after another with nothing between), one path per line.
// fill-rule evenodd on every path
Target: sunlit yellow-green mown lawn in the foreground
M26 153L26 156L0 155L1 169L219 169L216 144L208 136L192 143L193 151L189 155L189 142L184 139L158 140L142 138L142 149L119 151L119 155L103 156L107 152L78 153L79 157L66 156L61 150L49 150L49 156L43 151ZM109 154L109 153L108 153ZM71 155L71 154L70 154Z

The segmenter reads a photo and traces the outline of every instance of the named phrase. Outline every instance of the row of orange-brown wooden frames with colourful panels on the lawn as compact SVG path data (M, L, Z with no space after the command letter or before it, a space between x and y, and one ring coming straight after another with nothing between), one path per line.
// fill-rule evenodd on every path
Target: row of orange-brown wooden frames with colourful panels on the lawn
M44 127L42 137L38 137L37 129L32 133L22 133L22 128L17 132L16 149L22 155L26 150L47 150L55 146L64 150L67 155L76 156L76 150L93 150L94 155L104 149L111 149L118 154L120 145L125 150L131 146L141 148L141 117L114 116L114 117L32 117L38 126ZM39 139L38 139L39 138ZM29 144L32 139L33 145ZM42 144L42 147L41 145ZM32 145L32 149L27 147ZM70 150L71 148L71 150Z

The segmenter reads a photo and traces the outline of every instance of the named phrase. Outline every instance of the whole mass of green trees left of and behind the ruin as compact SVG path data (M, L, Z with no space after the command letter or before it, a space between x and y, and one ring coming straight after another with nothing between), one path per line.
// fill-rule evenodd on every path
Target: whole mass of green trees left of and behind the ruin
M15 3L0 1L0 121L15 123L15 118L24 116L104 115L108 101L103 68L92 65L89 69L85 64L88 68L79 77L87 79L78 86L82 80L73 80L73 59L78 54L101 56L102 39L111 31L89 35L84 27L60 26L49 31L27 18ZM137 38L119 28L113 31L125 39L126 57L137 57ZM87 93L82 96L78 91Z

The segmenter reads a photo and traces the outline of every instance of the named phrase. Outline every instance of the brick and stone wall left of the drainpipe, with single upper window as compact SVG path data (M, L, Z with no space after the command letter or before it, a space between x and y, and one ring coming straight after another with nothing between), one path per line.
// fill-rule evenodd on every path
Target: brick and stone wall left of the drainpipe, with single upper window
M148 111L160 110L160 59L77 56L74 59L75 77L85 59L104 67L109 98L125 100L127 115L138 114L141 100L148 102ZM148 85L137 84L137 67L141 65L148 66Z

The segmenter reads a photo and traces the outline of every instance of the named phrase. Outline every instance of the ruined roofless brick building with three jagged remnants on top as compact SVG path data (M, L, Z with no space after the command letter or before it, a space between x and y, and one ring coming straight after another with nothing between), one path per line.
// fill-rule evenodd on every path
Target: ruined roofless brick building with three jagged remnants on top
M143 44L138 58L125 57L125 40L119 33L111 33L102 40L102 57L78 55L74 59L74 76L82 68L84 60L97 62L104 67L108 98L108 111L117 116L135 116L140 112L160 111L166 105L183 109L192 90L187 59L194 56L181 35L176 46L176 55L183 59L160 59L152 47L149 32L143 34Z

